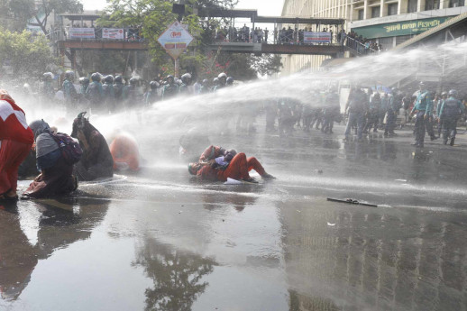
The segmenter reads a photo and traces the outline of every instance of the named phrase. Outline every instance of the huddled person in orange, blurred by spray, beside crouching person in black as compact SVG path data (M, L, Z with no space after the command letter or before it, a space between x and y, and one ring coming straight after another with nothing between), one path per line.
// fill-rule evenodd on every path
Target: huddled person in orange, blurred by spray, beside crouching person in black
M114 169L125 169L127 166L133 171L140 169L140 152L132 137L126 134L116 136L110 144L110 153L114 158Z

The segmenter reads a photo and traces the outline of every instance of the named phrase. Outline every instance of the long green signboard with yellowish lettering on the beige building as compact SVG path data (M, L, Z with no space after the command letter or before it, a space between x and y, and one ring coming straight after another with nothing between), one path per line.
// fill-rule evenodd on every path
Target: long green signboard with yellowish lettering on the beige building
M452 18L452 16L426 18L400 23L380 23L371 26L355 27L352 28L352 30L353 32L357 32L358 35L362 35L363 38L368 39L415 35L426 32L427 30L446 22L450 18Z

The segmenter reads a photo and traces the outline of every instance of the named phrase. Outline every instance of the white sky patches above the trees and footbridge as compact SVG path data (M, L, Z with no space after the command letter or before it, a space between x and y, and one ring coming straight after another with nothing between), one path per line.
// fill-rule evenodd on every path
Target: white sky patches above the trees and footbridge
M85 10L102 10L105 0L81 0ZM240 0L237 9L257 9L259 15L279 16L284 0Z

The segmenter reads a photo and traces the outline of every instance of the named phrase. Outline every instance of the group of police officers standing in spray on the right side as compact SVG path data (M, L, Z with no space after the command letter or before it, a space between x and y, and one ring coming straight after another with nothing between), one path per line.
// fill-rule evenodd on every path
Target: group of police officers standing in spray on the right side
M333 133L334 123L346 119L344 142L352 141L353 131L357 140L362 141L364 134L378 133L379 130L384 131L385 137L396 136L394 130L397 125L403 127L415 119L415 146L424 146L425 133L431 141L442 137L444 144L449 142L453 146L457 123L464 117L465 101L460 100L454 89L435 94L428 91L422 82L414 95L405 94L395 87L384 92L353 87L343 114L340 96L333 87L325 92L312 92L308 103L279 98L277 103L266 105L264 110L266 131L279 131L280 136L292 135L297 127L310 132L314 126L323 133Z

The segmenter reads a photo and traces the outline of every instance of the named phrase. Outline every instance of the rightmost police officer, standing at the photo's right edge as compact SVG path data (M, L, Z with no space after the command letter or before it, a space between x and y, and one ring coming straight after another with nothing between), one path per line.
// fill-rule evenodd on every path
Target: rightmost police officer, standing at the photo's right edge
M441 106L439 119L443 120L443 143L447 144L447 139L451 137L449 144L453 146L455 134L457 133L457 120L462 116L464 106L456 98L457 91L455 89L450 90L448 96Z

